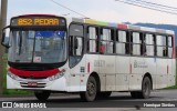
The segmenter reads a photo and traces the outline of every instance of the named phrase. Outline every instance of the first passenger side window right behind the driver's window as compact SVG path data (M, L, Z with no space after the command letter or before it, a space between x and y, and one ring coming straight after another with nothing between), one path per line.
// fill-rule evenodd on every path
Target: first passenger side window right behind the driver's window
M88 36L88 42L87 42L87 51L88 52L97 52L97 28L95 27L88 27L87 29L87 36Z

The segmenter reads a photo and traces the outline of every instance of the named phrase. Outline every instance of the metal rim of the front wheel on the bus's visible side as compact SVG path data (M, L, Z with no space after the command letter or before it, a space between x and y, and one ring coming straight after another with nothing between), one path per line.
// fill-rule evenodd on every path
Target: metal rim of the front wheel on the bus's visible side
M90 97L92 97L92 95L95 95L95 93L96 93L95 84L93 82L88 82L88 84L87 84L87 94Z

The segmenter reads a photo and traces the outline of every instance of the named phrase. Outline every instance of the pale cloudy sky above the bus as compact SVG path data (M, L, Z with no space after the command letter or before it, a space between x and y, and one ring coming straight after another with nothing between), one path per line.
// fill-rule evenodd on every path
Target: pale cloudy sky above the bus
M145 8L125 4L115 0L54 0L87 18L110 22L144 22L157 24L176 24L177 14L163 13ZM126 1L126 0L125 0ZM128 1L128 0L127 0ZM177 0L146 0L149 2L176 7ZM177 12L177 11L176 11ZM8 19L28 13L51 13L56 16L84 18L64 9L51 0L8 0Z

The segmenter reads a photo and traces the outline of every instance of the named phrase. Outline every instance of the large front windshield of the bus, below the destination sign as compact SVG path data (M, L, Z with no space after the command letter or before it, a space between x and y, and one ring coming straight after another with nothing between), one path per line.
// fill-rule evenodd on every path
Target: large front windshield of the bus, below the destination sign
M66 60L66 32L63 30L12 30L9 61L59 63Z

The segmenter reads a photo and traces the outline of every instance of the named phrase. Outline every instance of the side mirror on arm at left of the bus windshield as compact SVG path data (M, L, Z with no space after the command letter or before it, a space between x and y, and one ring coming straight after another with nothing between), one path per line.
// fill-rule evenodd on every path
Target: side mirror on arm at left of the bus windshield
M6 31L7 31L8 28L9 28L9 26L2 29L2 40L1 40L1 44L2 44L3 47L6 47L6 48L10 48L10 46L9 46L9 40L10 40L10 39L9 39L9 37L7 37L7 34L6 34Z

